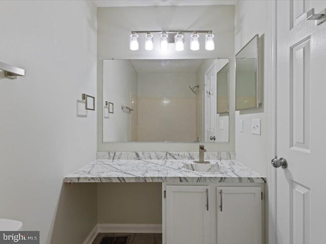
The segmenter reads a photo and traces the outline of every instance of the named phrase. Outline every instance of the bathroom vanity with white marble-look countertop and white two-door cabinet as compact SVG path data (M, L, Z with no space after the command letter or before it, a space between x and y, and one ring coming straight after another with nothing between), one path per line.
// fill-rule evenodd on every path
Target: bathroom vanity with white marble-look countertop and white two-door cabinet
M103 153L64 182L161 182L162 243L261 243L265 177L230 153Z

